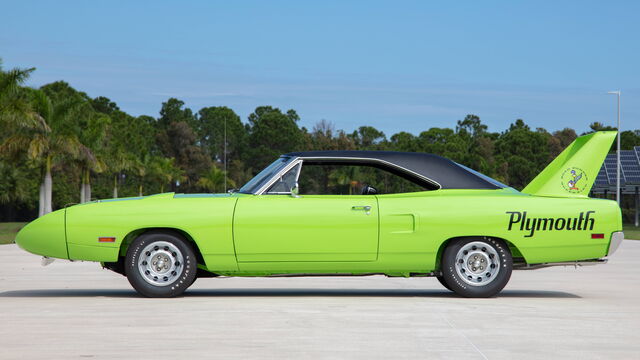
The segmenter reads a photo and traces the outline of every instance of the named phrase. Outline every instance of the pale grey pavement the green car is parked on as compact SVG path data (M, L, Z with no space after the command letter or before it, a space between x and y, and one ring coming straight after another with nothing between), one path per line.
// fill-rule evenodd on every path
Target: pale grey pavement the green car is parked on
M95 263L0 246L0 359L638 359L640 241L609 264L516 271L497 298L432 278L199 279L140 298Z

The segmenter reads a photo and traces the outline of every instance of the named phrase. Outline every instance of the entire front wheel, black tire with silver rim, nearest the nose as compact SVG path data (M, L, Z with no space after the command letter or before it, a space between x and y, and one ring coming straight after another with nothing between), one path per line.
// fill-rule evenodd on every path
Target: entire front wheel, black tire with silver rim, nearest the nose
M196 271L191 243L172 233L145 233L127 250L127 279L142 296L179 296L193 284Z

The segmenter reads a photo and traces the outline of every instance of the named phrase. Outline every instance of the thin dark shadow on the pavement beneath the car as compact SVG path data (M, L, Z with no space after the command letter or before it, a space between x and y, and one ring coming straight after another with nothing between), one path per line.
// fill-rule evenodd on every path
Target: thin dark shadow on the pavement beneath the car
M183 297L424 297L459 298L458 295L435 289L192 289ZM37 289L0 292L0 297L14 298L64 298L64 297L140 297L126 289ZM578 295L549 290L504 290L497 297L508 298L581 298Z

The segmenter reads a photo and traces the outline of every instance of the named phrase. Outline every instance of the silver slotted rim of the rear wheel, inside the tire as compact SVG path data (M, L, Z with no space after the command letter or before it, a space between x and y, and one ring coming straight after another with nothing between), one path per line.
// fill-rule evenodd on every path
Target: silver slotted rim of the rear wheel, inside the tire
M482 241L465 244L456 254L456 272L465 283L482 286L492 282L500 271L497 250Z

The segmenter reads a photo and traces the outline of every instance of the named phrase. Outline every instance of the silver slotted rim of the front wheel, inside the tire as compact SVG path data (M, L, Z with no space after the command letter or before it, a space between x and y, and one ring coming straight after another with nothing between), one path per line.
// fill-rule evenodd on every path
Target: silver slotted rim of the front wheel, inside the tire
M168 286L182 274L182 252L172 243L155 241L145 246L138 259L138 271L151 285Z

